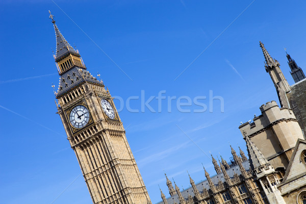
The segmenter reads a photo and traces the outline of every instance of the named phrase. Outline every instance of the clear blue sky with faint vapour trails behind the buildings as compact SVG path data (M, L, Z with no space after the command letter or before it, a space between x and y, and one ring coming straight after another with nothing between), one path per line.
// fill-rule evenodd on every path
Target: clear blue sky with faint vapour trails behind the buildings
M278 103L259 41L279 61L289 84L293 79L284 47L306 69L306 3L251 3L1 1L0 203L91 203L77 158L55 114L51 85L57 87L59 77L48 10L68 42L77 46L88 70L100 73L113 96L125 101L140 97L144 90L146 100L165 90L166 97L193 99L208 97L212 90L224 99L224 113L217 100L212 113L182 113L175 101L169 113L167 100L162 100L159 113L148 109L131 113L126 108L119 113L156 203L161 200L158 185L169 195L164 170L181 189L189 186L187 170L196 182L205 179L201 163L215 174L209 152L229 160L229 142L236 150L238 145L245 150L240 121L260 115L259 107L267 101ZM208 104L208 99L202 102ZM118 100L115 103L119 106ZM150 105L157 110L156 99ZM141 101L131 101L131 107L140 110ZM199 107L183 109L188 108Z

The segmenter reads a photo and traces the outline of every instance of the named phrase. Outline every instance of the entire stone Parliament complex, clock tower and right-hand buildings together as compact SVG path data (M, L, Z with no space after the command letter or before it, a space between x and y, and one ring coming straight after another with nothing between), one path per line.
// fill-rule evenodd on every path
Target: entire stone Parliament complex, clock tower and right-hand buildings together
M92 202L151 203L125 130L103 81L93 77L75 50L60 33L50 14L56 34L56 66L60 83L56 92L58 114L68 141L77 156ZM306 204L306 79L287 54L295 84L289 85L277 60L260 42L265 69L275 86L279 104L260 107L261 115L239 126L248 157L231 148L233 159L217 161L216 175L205 170L206 180L183 191L168 179L170 196L161 191L164 204ZM279 106L278 106L279 105ZM230 150L229 148L229 150Z

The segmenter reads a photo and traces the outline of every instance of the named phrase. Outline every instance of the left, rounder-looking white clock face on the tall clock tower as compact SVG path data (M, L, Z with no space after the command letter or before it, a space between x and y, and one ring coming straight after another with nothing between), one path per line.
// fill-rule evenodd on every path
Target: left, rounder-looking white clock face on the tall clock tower
M71 110L69 119L72 126L80 129L88 123L89 111L85 106L76 106Z

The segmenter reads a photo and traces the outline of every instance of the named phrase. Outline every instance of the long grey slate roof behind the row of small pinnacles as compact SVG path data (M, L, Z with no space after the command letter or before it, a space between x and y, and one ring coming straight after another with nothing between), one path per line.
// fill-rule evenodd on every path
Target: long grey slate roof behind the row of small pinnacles
M242 165L243 165L243 167L245 168L246 171L250 170L250 165L249 165L248 161L243 162ZM227 169L226 172L231 177L231 179L233 179L235 173L238 174L238 175L241 174L238 165L232 166L230 169ZM211 177L211 179L212 179L212 182L215 185L218 185L219 181L221 181L222 183L225 182L223 173L219 173L217 175L214 175L214 176ZM203 192L203 187L205 187L207 190L210 189L207 180L201 181L201 182L197 183L195 186L200 193ZM182 195L185 199L188 199L189 195L192 196L192 197L194 196L193 189L192 189L191 186L188 187L187 189L185 189L184 191L181 191L181 193L182 193ZM174 204L175 202L180 203L179 196L176 194L176 195L173 195L172 197L171 196L167 197L167 202L168 202L168 204ZM163 204L163 203L164 203L163 201L160 201L156 204Z

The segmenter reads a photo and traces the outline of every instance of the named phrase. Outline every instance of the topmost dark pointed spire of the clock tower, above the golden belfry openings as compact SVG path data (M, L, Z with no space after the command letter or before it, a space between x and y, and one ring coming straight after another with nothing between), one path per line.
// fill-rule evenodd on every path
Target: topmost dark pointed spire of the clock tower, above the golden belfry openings
M55 35L56 35L56 57L55 61L59 62L61 59L66 57L69 54L72 54L77 57L81 57L80 54L73 49L73 47L67 42L64 36L59 31L57 25L55 24L54 15L49 11L49 18L52 19L52 23L54 24Z

